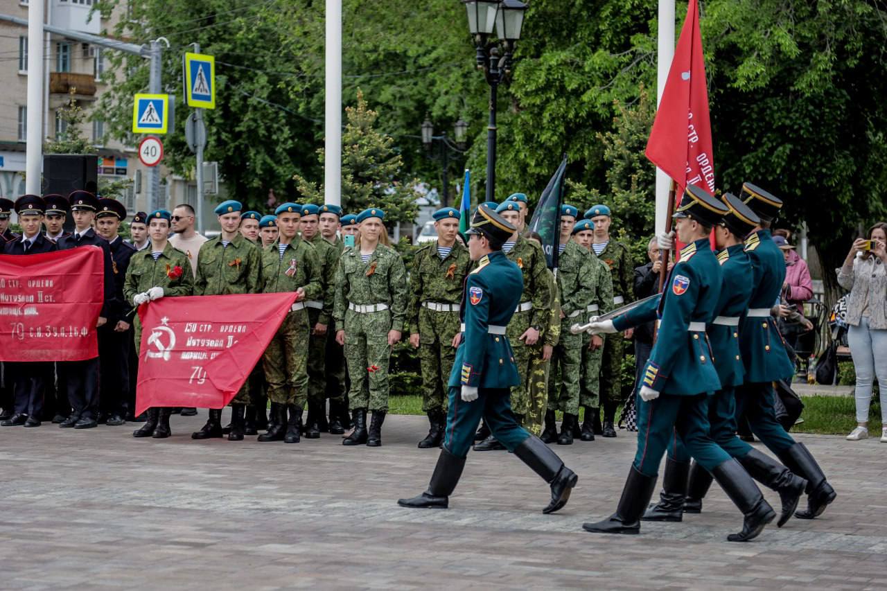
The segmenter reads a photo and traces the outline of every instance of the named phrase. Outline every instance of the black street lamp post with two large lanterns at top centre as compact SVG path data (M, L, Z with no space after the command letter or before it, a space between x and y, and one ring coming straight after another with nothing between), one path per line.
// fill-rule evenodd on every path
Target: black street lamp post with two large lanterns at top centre
M496 101L498 85L511 75L514 45L521 38L527 4L520 0L462 0L468 30L475 42L478 69L490 84L490 122L487 125L486 201L496 201ZM496 28L496 39L492 39Z

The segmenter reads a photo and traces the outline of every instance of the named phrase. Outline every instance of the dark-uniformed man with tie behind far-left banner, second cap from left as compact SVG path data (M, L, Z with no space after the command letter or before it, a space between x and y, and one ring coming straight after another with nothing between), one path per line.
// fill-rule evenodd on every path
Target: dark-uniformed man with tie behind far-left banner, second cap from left
M56 249L55 243L40 232L44 208L43 200L36 195L22 195L15 201L22 235L4 245L4 255L36 255ZM46 379L52 375L52 363L7 361L5 368L12 377L15 413L0 425L39 427L43 414L43 388Z

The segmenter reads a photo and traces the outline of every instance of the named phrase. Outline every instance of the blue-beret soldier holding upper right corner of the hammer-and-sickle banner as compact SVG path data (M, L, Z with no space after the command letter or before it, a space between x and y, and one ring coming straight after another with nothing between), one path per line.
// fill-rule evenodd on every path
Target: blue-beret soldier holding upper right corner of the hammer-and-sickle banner
M260 292L295 292L296 300L283 324L271 339L263 357L273 424L259 441L299 443L302 409L308 401L308 342L310 327L306 301L322 296L320 259L308 242L299 237L296 203L284 203L274 213L278 240L262 249Z

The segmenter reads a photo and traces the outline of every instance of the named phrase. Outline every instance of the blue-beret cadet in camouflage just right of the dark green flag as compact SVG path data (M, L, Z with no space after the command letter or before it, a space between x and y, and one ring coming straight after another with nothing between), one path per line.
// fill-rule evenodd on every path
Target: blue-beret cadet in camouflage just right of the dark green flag
M585 319L585 311L594 296L595 262L585 248L570 240L578 215L579 210L572 205L561 205L561 252L557 265L561 294L561 340L554 347L552 355L544 433L547 437L542 437L546 443L552 443L557 434L554 411L560 410L563 422L561 436L556 437L558 445L572 445L573 429L577 428L579 418L579 382L585 335L573 335L569 327Z

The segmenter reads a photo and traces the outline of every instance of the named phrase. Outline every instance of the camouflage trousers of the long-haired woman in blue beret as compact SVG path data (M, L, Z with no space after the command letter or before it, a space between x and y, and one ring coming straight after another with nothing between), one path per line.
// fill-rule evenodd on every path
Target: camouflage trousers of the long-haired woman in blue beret
M345 362L351 389L349 410L388 412L391 312L345 312Z

